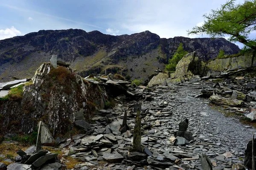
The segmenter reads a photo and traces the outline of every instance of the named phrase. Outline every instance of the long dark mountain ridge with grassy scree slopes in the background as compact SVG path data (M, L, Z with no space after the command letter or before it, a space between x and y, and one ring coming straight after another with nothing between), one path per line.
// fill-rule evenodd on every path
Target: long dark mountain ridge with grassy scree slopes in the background
M121 73L148 79L177 50L180 42L186 51L196 51L201 60L215 58L220 49L235 54L239 48L223 38L160 38L144 31L111 36L81 29L41 30L0 41L0 82L11 76L31 78L52 54L71 64L81 76L91 73Z

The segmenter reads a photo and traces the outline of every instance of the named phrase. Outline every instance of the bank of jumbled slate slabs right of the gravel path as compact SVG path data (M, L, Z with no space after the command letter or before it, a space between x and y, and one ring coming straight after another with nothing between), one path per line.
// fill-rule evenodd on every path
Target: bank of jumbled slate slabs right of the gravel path
M244 113L251 121L256 119L256 77L248 69L208 73L201 94L216 105L223 105L235 113ZM201 84L202 82L193 82ZM250 108L250 109L249 109Z

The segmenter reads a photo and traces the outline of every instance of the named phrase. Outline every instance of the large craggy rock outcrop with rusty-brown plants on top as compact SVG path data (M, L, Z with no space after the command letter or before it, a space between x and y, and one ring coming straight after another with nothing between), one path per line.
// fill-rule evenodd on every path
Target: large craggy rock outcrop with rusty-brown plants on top
M50 63L42 64L32 78L32 85L23 87L23 98L0 101L0 133L22 131L31 133L39 120L55 133L72 129L75 113L84 109L89 119L95 109L100 109L105 92L98 85L83 81L70 68ZM103 93L103 95L102 95Z

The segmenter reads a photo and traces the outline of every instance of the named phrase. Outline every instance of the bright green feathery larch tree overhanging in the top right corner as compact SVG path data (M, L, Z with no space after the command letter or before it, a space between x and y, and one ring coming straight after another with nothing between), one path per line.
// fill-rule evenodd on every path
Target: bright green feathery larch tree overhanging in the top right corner
M208 34L211 37L229 35L231 42L241 42L245 49L253 50L254 59L256 39L250 39L249 36L256 31L256 0L244 0L244 3L229 0L203 17L203 25L193 27L188 34Z

